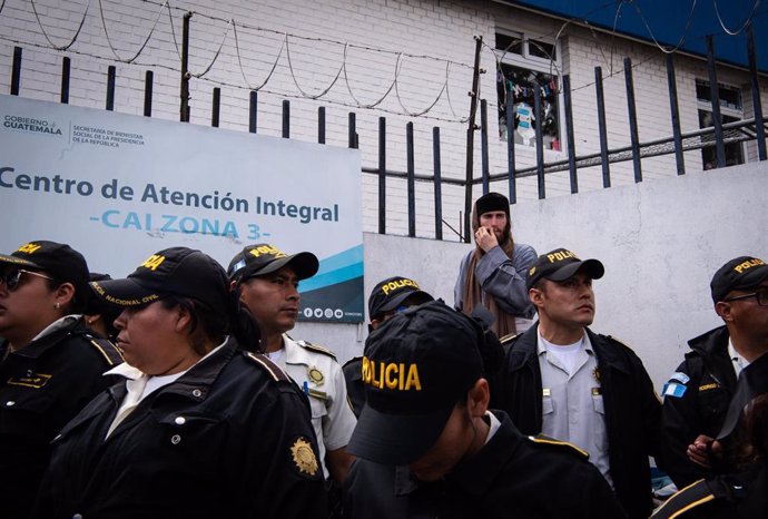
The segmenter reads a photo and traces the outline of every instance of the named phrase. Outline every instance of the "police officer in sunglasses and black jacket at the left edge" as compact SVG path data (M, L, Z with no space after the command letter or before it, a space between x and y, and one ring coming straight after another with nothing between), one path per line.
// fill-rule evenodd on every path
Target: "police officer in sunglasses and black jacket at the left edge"
M82 311L88 265L69 245L30 242L0 255L0 517L28 517L50 441L120 363Z

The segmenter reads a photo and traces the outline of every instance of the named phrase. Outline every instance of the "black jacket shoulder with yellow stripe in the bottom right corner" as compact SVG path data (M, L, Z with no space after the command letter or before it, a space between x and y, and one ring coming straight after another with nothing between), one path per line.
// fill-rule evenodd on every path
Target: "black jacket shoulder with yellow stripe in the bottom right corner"
M652 519L765 519L768 468L699 480L669 498Z

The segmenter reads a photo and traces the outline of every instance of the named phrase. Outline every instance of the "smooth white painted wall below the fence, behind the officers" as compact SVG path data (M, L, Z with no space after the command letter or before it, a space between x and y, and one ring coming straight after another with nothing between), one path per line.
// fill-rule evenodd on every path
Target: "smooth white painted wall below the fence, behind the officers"
M740 255L768 260L768 164L519 204L515 239L539 254L564 246L597 257L592 329L640 355L657 389L682 360L687 341L720 325L709 282ZM403 274L453 301L459 261L470 245L365 235L366 295L377 281ZM362 352L365 330L299 324L296 335L325 343L342 361Z

